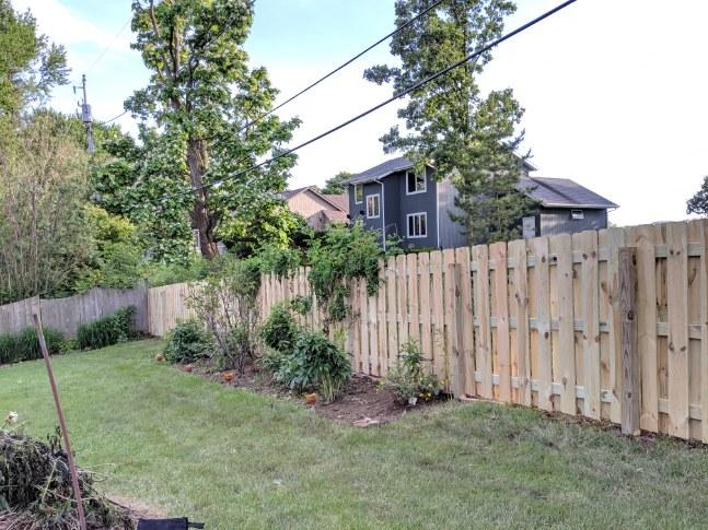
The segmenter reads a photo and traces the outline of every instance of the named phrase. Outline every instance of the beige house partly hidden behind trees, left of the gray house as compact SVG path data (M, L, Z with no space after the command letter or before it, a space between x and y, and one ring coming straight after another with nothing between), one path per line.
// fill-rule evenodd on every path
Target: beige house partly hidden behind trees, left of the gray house
M290 211L302 215L307 225L322 229L330 223L349 222L349 198L343 195L325 195L313 186L287 190L282 198Z

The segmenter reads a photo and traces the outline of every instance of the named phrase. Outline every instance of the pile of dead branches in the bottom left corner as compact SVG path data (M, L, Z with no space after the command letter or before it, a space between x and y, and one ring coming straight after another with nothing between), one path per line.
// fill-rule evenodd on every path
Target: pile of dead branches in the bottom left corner
M79 484L92 530L132 530L127 509L100 495L93 475L80 471ZM0 428L0 529L79 528L67 454L57 435L47 441Z

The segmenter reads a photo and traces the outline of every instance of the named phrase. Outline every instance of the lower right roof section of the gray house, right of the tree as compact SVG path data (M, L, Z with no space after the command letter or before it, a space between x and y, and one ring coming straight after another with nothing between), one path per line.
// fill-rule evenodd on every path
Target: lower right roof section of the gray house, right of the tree
M569 178L522 177L519 187L546 208L618 208L614 202Z

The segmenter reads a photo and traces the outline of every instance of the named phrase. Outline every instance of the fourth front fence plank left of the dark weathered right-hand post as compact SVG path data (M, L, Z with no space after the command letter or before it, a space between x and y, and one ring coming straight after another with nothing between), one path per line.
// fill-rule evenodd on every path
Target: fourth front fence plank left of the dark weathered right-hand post
M535 237L529 242L536 264L533 268L534 285L536 286L536 352L538 355L538 408L553 410L553 352L550 350L550 278L548 261L548 238Z

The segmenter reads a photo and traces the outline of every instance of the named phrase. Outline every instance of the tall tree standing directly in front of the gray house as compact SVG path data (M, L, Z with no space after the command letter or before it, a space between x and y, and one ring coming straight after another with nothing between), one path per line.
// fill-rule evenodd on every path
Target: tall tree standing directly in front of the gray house
M433 0L396 0L402 25ZM375 66L364 78L391 83L401 92L499 37L503 19L513 13L509 0L449 0L396 34L391 51L401 67ZM386 153L404 151L418 169L431 164L439 178L450 176L457 187L456 205L471 243L518 236L520 219L534 202L517 189L522 158L515 155L523 139L517 133L523 109L510 89L486 96L478 85L486 52L414 91L398 110L407 133L393 127L381 140Z

